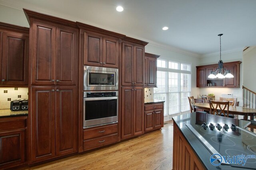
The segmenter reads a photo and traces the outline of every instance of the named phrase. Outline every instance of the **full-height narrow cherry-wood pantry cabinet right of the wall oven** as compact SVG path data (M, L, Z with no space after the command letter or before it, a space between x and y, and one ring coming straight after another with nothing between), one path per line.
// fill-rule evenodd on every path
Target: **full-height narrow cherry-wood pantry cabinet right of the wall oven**
M144 56L147 42L124 37L121 57L121 139L144 133Z

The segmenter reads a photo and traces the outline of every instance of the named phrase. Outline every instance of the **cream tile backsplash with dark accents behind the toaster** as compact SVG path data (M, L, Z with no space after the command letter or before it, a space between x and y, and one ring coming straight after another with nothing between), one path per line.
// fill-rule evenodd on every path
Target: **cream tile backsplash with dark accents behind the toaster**
M10 109L12 100L28 99L28 88L0 88L0 109Z

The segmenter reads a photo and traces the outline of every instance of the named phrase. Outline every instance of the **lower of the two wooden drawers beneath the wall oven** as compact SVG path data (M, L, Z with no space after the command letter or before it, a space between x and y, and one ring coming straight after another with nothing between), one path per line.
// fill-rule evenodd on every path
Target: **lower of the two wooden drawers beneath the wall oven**
M116 143L117 141L118 141L117 134L109 135L105 137L99 137L96 139L90 139L90 140L84 141L83 149L84 150L94 149L94 148L102 147L104 145L108 145L111 143Z

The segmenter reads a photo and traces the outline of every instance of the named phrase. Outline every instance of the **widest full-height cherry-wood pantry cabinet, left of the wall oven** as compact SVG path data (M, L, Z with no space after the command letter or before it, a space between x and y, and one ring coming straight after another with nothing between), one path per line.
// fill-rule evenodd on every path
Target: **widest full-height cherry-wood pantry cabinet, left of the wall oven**
M30 23L29 162L78 150L78 27L24 10Z

